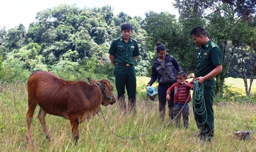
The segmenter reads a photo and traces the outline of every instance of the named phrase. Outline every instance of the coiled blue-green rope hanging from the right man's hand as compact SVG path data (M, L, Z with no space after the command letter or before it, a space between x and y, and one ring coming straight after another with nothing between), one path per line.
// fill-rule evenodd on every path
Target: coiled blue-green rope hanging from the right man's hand
M198 80L194 81L194 89L193 89L193 108L194 115L197 113L198 115L206 115L203 123L199 123L196 120L197 124L205 124L207 121L207 111L205 107L205 101L203 96L203 83L200 84ZM199 108L196 108L199 107Z

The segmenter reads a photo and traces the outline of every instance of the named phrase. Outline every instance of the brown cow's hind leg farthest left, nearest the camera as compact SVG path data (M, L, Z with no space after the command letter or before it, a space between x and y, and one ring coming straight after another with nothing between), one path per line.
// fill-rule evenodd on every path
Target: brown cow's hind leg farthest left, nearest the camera
M28 144L29 144L29 145L32 144L30 126L31 126L31 122L32 122L32 119L33 119L33 115L34 115L36 106L37 106L36 101L35 101L34 99L31 99L30 97L28 97L27 141L28 141Z

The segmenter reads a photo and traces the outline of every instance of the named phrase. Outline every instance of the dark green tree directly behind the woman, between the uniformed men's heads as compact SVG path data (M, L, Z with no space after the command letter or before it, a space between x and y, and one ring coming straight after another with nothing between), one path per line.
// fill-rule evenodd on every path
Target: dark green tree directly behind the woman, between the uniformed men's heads
M160 41L165 44L167 53L179 61L183 70L187 71L194 68L192 66L195 61L191 54L196 54L194 53L195 50L191 49L191 45L187 46L189 39L185 39L187 37L182 32L182 26L177 22L174 15L149 12L145 18L145 30L148 35L146 41L148 50L155 53L156 42Z

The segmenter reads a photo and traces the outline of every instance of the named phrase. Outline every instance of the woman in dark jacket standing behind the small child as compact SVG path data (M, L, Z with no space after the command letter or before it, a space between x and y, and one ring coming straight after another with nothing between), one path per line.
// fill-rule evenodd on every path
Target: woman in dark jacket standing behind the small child
M166 91L173 84L177 82L176 70L182 71L178 61L171 55L166 55L166 47L164 44L156 43L157 57L152 65L151 79L146 86L152 85L158 81L158 101L160 119L164 121L165 107L166 107ZM171 93L171 99L168 101L169 119L171 120L171 110L173 103L174 92Z

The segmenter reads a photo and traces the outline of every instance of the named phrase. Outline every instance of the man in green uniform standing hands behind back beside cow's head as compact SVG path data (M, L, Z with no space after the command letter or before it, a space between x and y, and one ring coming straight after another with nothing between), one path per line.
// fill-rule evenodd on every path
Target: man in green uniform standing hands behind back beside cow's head
M109 58L114 65L117 98L123 113L126 112L125 88L128 95L128 110L135 112L136 76L134 61L139 54L137 41L131 38L132 26L125 23L121 26L122 37L112 41Z

